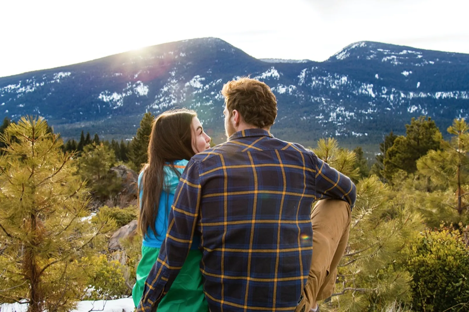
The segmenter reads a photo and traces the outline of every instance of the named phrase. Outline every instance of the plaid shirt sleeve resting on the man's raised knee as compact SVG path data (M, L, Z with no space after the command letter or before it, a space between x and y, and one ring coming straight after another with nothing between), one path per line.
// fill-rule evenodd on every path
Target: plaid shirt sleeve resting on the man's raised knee
M316 169L315 196L317 200L331 198L347 201L352 209L356 201L355 184L346 175L330 167L314 153L312 160Z

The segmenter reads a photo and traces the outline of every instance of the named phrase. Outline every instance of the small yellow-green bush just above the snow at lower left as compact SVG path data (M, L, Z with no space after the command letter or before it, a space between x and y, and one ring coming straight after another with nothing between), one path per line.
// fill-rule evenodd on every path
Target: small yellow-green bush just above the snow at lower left
M91 258L83 258L89 264L88 287L85 290L87 300L116 299L130 295L126 285L125 268L117 260L109 260L101 254Z

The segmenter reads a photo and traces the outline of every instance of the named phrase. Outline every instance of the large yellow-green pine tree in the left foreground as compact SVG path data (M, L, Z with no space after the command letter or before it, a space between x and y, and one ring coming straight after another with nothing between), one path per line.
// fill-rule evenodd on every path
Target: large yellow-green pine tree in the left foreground
M75 154L47 128L23 117L0 136L0 302L27 303L28 312L73 309L87 282L81 257L115 226L83 221L88 193Z

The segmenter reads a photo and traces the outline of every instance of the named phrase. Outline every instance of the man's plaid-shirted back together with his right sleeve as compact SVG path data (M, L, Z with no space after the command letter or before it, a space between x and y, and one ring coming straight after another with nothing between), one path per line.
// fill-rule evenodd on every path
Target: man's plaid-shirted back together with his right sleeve
M192 161L211 311L293 311L310 269L311 204L319 197L350 201L353 184L310 151L261 129L235 133Z

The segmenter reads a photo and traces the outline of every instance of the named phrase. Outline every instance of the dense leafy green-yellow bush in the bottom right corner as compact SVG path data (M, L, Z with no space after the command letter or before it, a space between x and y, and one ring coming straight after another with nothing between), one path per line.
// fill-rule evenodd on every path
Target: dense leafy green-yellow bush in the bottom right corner
M426 230L405 252L415 311L469 309L469 249L459 231Z

